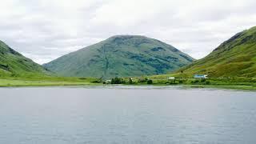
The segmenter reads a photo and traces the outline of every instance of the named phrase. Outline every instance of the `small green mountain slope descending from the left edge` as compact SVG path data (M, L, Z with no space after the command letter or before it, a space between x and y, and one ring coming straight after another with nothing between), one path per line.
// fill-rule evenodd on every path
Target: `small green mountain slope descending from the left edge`
M46 70L0 41L0 76L46 74Z

